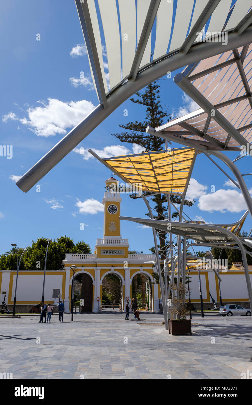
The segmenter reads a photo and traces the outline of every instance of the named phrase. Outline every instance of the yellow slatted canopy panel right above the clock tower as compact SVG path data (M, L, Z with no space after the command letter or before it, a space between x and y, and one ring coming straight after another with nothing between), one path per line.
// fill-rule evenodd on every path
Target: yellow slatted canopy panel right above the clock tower
M102 160L127 183L141 184L142 190L183 193L195 153L189 148L167 149Z

